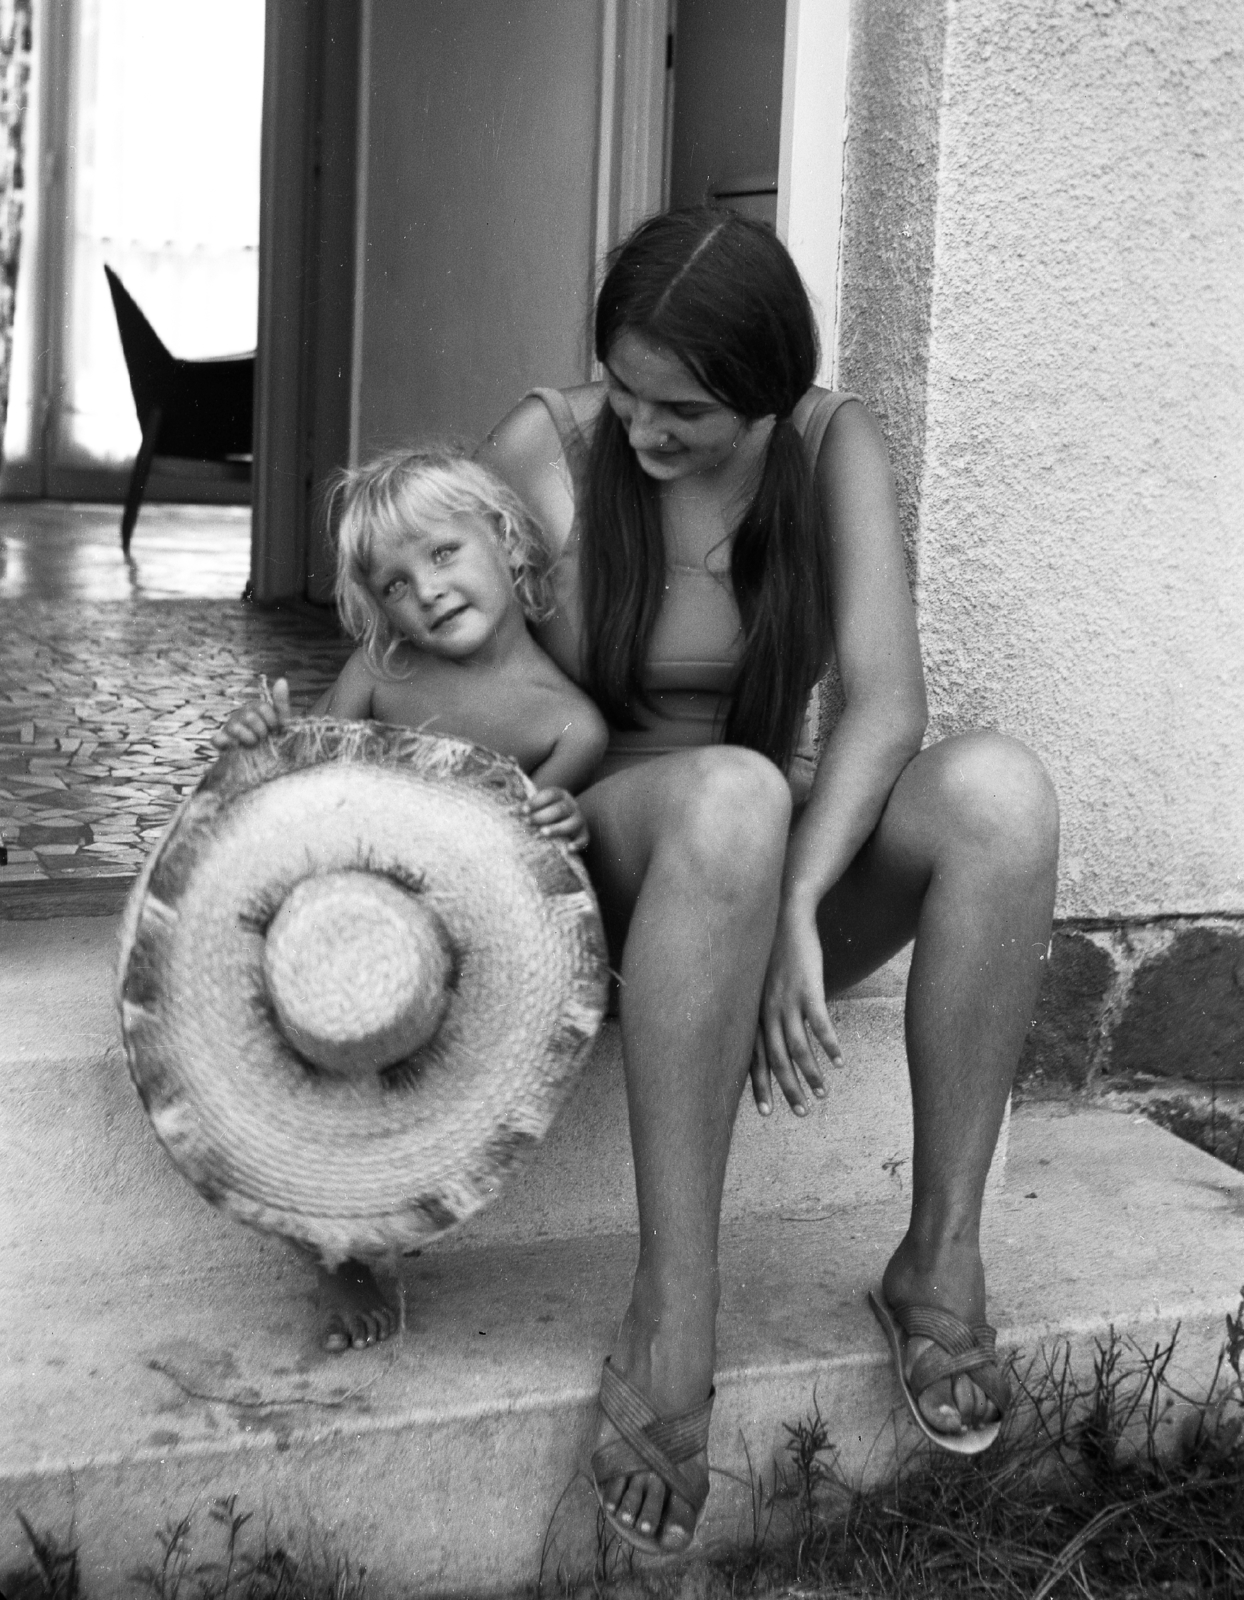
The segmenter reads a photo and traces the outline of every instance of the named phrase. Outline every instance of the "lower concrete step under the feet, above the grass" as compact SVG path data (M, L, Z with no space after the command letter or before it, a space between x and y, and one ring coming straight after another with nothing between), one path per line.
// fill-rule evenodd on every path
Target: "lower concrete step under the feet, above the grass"
M1150 1123L1039 1106L1014 1118L1007 1171L983 1240L1001 1342L1028 1358L1062 1334L1083 1368L1110 1325L1148 1346L1178 1323L1175 1382L1204 1384L1238 1293L1239 1174ZM366 1562L382 1597L590 1563L577 1472L632 1235L427 1253L401 1338L333 1358L307 1341L309 1274L273 1242L201 1206L179 1259L66 1272L40 1198L5 1250L0 1568L22 1554L21 1507L61 1533L72 1518L86 1592L130 1595L157 1528L233 1493ZM748 1474L768 1480L814 1403L851 1478L907 1448L863 1299L905 1202L895 1182L723 1230L710 1542L748 1536Z

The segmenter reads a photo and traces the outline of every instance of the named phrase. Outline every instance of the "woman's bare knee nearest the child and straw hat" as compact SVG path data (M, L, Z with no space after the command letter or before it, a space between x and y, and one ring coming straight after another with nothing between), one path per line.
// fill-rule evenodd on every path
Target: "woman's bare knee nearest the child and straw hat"
M683 765L667 818L667 845L700 882L776 880L790 832L790 787L755 750L713 746Z

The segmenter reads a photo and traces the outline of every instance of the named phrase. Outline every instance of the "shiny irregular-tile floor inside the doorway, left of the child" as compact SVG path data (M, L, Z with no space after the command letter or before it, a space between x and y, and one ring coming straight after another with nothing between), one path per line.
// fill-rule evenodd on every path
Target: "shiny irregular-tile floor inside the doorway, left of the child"
M112 909L261 675L305 706L350 650L328 611L241 602L248 509L144 507L128 560L118 522L0 504L0 917Z

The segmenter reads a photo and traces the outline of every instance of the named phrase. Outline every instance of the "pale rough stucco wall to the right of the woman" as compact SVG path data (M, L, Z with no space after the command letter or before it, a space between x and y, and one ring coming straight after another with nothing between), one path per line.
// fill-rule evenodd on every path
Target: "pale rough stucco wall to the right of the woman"
M1244 910L1244 8L963 0L940 67L916 10L939 165L897 456L934 733L991 725L1046 760L1062 915ZM884 251L847 278L846 333L892 278Z

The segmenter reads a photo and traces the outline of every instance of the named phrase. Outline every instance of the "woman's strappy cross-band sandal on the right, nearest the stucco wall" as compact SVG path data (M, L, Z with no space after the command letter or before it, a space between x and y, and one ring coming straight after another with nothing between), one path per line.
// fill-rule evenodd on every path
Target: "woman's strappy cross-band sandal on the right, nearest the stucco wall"
M871 1290L868 1291L868 1304L889 1339L903 1400L907 1400L907 1410L915 1418L916 1427L934 1445L955 1456L979 1456L982 1450L988 1450L998 1438L1003 1418L1011 1405L1011 1386L998 1365L996 1331L987 1322L969 1328L953 1312L942 1310L939 1306L889 1306L883 1294ZM934 1349L916 1357L910 1373L903 1370L908 1339L932 1339L934 1342ZM998 1418L980 1427L969 1427L963 1434L939 1434L935 1427L929 1426L916 1400L929 1384L935 1384L940 1378L961 1374L971 1376L972 1382L985 1390L998 1406Z

